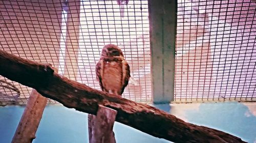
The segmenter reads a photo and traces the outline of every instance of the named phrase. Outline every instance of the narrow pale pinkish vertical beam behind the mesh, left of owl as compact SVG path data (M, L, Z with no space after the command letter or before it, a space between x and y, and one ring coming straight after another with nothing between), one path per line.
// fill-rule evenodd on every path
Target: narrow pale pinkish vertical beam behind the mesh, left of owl
M78 72L80 1L69 0L67 7L67 36L64 76L76 80Z

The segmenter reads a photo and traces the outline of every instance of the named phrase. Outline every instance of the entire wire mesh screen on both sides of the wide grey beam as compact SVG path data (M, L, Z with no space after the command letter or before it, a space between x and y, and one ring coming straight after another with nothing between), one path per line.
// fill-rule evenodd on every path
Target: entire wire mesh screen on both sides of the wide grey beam
M178 0L176 102L256 100L255 10L249 0ZM101 48L116 44L137 82L123 97L142 102L152 101L149 27L146 0L0 1L1 50L99 89ZM31 91L0 76L0 103L26 104Z

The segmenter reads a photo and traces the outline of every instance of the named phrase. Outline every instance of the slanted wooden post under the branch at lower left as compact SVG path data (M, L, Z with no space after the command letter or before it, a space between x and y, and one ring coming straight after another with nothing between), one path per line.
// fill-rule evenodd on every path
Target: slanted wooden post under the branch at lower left
M12 143L29 143L35 138L35 133L42 118L48 98L32 90L27 106L19 121Z

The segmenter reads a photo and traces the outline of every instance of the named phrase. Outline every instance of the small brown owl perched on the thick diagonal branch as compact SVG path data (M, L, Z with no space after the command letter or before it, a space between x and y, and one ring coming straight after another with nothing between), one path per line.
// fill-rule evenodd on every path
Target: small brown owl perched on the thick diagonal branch
M103 47L96 65L96 76L102 91L122 95L131 76L130 67L118 46L108 44Z

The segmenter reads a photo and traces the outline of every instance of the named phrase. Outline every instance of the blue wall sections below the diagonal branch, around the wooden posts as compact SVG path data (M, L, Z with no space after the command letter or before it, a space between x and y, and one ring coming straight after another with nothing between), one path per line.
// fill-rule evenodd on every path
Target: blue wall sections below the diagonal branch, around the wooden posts
M0 143L11 142L24 107L0 107ZM87 113L63 106L47 106L33 142L84 143L88 142ZM115 122L114 132L117 142L170 142L147 135L141 131Z

